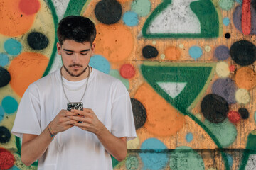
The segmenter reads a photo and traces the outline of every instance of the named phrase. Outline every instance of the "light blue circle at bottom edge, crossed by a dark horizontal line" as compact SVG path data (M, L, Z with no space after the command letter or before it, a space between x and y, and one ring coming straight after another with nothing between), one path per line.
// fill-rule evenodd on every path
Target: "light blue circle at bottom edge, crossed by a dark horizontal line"
M168 163L168 155L163 152L165 149L167 148L164 143L156 138L145 140L141 147L141 150L145 152L139 153L144 169L164 169Z

